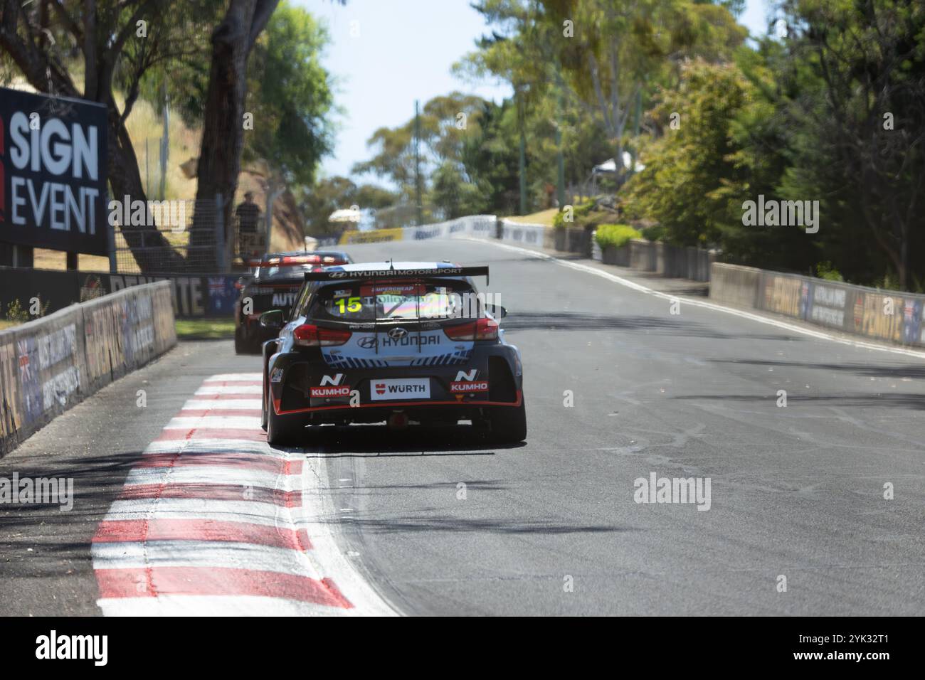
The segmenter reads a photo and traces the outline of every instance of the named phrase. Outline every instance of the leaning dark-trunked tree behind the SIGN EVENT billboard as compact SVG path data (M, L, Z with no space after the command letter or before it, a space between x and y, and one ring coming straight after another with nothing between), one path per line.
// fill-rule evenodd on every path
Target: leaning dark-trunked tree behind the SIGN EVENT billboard
M209 3L177 0L2 0L0 48L32 87L108 107L108 175L115 196L146 200L126 119L149 69L188 53ZM164 20L169 14L171 20ZM65 49L68 47L68 50ZM69 71L82 60L82 91ZM116 79L125 93L119 110ZM154 225L122 229L142 272L179 268L182 258ZM156 254L155 254L156 253Z

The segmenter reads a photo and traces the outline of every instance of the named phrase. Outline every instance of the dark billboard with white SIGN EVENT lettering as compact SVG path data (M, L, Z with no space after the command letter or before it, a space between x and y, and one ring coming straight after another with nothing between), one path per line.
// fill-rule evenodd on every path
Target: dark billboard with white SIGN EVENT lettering
M108 253L106 107L0 88L0 241Z

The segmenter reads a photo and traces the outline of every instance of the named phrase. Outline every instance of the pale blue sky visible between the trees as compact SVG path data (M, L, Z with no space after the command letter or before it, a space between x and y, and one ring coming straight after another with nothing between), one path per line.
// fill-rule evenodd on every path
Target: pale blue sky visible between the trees
M450 68L475 49L488 31L469 0L290 0L327 24L330 44L323 58L336 80L338 131L334 153L321 174L351 177L354 163L369 158L366 140L378 128L393 128L438 94L459 90L499 102L511 88L500 82L472 82ZM739 17L752 33L765 31L766 0L746 0ZM374 181L376 178L353 178Z

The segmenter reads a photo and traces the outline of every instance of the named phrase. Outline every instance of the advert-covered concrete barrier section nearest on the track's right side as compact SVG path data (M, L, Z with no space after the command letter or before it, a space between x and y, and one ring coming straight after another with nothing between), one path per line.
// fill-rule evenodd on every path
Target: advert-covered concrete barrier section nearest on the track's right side
M713 263L709 297L851 335L925 347L925 295Z

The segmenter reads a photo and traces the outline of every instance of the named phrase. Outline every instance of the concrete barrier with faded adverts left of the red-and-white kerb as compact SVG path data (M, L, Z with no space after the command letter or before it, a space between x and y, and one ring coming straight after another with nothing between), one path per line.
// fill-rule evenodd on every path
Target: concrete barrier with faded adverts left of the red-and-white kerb
M0 331L0 457L56 415L176 344L166 281Z

